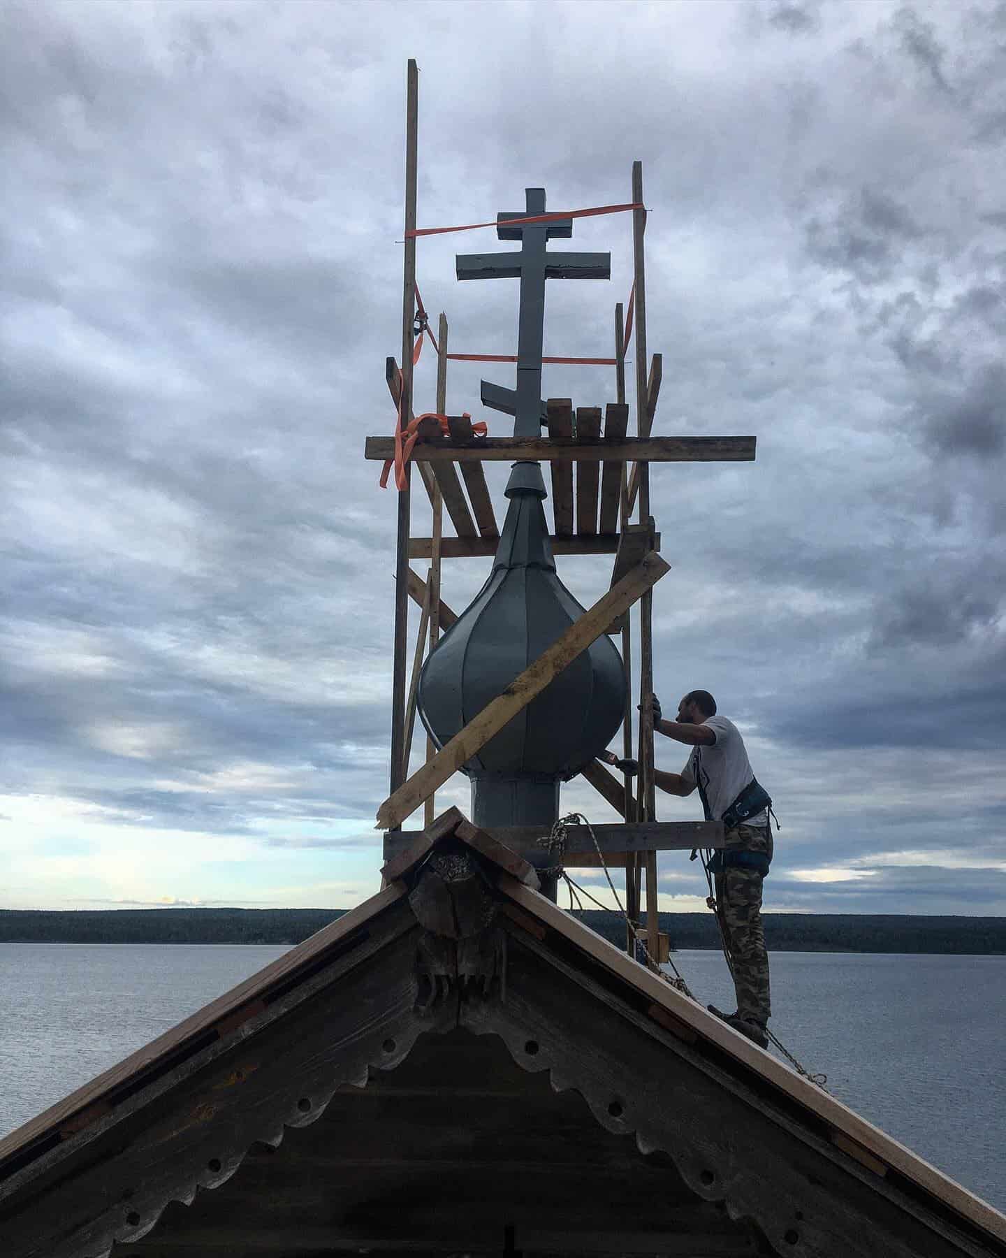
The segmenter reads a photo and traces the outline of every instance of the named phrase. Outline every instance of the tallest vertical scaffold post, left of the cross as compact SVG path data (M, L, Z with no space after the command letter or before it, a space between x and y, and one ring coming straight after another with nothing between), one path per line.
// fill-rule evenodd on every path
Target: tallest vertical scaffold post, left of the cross
M419 69L410 58L406 74L405 112L405 265L401 301L401 404L407 418L412 405L412 325L415 322L416 238L416 151L419 140ZM409 515L411 509L411 464L405 465L405 488L399 491L397 555L395 562L395 664L391 682L391 790L405 781L405 669L409 633ZM400 829L401 827L395 827Z

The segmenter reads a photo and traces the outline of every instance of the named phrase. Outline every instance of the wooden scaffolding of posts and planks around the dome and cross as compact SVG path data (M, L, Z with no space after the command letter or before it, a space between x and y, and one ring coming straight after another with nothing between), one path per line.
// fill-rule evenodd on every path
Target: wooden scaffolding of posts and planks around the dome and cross
M405 249L402 273L401 367L395 359L386 362L386 382L397 410L400 426L414 419L412 366L416 338L426 335L425 311L417 306L416 288L416 156L419 116L419 75L409 62L405 162ZM610 633L620 638L629 682L622 723L622 760L634 759L633 731L633 619L639 643L640 702L635 760L639 766L638 790L633 791L629 772L619 780L599 761L583 770L583 777L621 816L615 825L594 827L606 866L625 869L629 932L626 946L639 923L645 888L646 952L650 964L661 959L658 925L658 850L716 848L723 843L719 821L656 821L654 786L654 731L646 717L644 698L653 693L653 586L670 569L660 557L660 535L650 512L650 464L675 462L751 460L753 437L654 437L653 428L661 384L661 356L648 360L646 273L643 208L643 164L633 164L633 296L627 309L615 307L615 355L606 360L615 369L615 401L601 406L577 406L566 398L550 399L547 437L479 437L470 416L446 416L446 429L436 419L421 420L411 458L405 462L397 493L397 554L395 585L395 649L391 718L390 795L377 811L379 828L385 830L385 860L399 855L415 834L405 835L401 823L424 808L424 824L434 833L435 791L484 746L580 652L597 637ZM417 312L420 317L417 318ZM635 330L635 405L626 401L626 342ZM449 327L439 316L436 346L436 414L446 411ZM473 357L458 355L454 357ZM635 413L635 433L630 435L630 410ZM387 463L395 458L394 437L367 437L366 458ZM439 751L426 738L426 760L409 776L409 759L416 715L419 673L428 652L436 648L441 632L456 620L441 596L444 560L492 556L499 538L495 511L485 481L487 460L547 462L551 469L551 542L556 555L611 555L614 566L609 590L562 634L537 660L517 677L506 692L478 713ZM415 465L431 509L429 536L411 536L411 469ZM459 474L460 473L460 474ZM454 530L445 536L444 509ZM412 560L429 561L424 580L411 566ZM419 629L409 665L409 599L420 608ZM582 828L581 828L582 829ZM516 852L527 852L542 842L547 828L522 827L494 832L494 837ZM570 850L568 866L596 866L597 852L587 834L570 835L583 840L582 850ZM590 848L590 850L587 850Z

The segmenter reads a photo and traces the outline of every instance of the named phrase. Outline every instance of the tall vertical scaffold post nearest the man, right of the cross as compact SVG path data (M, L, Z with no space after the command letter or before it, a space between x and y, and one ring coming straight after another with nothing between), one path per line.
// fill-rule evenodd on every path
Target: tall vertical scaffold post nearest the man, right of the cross
M643 203L643 162L633 162L633 200ZM646 430L646 267L643 234L646 230L646 211L633 210L633 269L635 278L635 333L636 333L636 433ZM639 464L639 521L650 522L650 465ZM653 591L648 590L639 603L639 693L640 703L653 693ZM653 780L653 721L640 713L639 722L639 806L640 820L651 821L656 811ZM646 947L650 956L660 955L660 920L656 898L656 853L648 852L646 862Z

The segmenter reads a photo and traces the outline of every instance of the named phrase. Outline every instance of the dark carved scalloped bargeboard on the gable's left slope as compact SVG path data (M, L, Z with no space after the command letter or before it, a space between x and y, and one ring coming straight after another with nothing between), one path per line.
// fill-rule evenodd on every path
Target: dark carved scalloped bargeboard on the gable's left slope
M287 1127L318 1118L338 1087L363 1087L370 1071L404 1060L420 1033L454 1027L456 1000L416 1009L417 930L404 905L395 916L366 964L334 985L319 975L312 1000L216 1040L155 1094L60 1146L41 1174L28 1167L0 1203L4 1258L106 1258L113 1243L146 1235L170 1201L191 1204L197 1189L225 1183L253 1144L277 1146Z

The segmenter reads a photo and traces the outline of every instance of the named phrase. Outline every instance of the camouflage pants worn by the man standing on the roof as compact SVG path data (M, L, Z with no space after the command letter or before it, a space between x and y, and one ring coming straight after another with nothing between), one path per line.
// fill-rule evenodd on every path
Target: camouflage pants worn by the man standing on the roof
M771 854L771 835L763 829L738 825L727 830L727 850ZM731 866L716 876L717 916L733 962L737 1013L767 1023L772 1014L768 988L768 954L762 930L762 882L754 869Z

